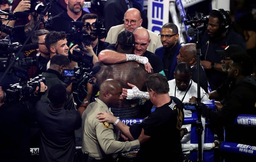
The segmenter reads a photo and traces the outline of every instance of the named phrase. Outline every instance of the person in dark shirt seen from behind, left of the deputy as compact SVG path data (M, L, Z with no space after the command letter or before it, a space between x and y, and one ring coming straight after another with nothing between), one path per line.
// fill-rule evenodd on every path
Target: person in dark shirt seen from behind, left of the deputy
M82 124L76 109L66 110L67 90L62 83L51 85L50 103L36 103L36 121L41 129L39 162L74 162L75 129Z

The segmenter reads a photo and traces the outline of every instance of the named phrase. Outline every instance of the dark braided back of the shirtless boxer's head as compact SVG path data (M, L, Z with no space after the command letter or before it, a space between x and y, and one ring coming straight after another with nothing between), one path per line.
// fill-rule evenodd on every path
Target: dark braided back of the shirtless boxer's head
M117 36L118 46L121 47L122 50L127 51L132 49L135 44L135 38L132 32L124 30Z

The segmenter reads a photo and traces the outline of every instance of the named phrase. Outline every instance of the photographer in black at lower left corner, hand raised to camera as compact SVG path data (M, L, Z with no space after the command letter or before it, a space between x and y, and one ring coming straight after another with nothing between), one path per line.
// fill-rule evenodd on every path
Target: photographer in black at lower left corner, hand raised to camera
M39 95L38 90L37 86L35 95ZM40 92L46 90L47 86L40 82ZM19 101L8 102L6 98L9 97L0 86L0 159L1 162L29 162L32 160L29 130L34 117L33 107L28 109ZM39 98L40 95L34 96L31 101L35 103Z

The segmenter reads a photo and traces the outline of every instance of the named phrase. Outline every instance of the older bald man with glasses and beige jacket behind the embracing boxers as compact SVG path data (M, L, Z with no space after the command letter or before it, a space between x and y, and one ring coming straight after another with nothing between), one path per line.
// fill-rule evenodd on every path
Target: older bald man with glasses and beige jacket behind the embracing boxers
M116 39L119 33L121 33L124 30L133 32L135 29L141 26L142 24L142 18L140 11L136 8L130 8L128 9L124 14L124 24L116 25L110 28L108 31L106 42L112 44L116 43ZM156 33L153 31L148 30L149 36L150 36L150 44L148 45L147 50L155 53L156 49L158 47L162 47L161 41Z

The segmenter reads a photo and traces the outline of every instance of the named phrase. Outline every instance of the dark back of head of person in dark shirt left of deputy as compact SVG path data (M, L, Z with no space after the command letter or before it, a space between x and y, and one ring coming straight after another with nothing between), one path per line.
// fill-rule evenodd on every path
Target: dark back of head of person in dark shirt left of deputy
M67 90L61 83L54 84L50 87L47 97L54 105L62 105L67 100Z

